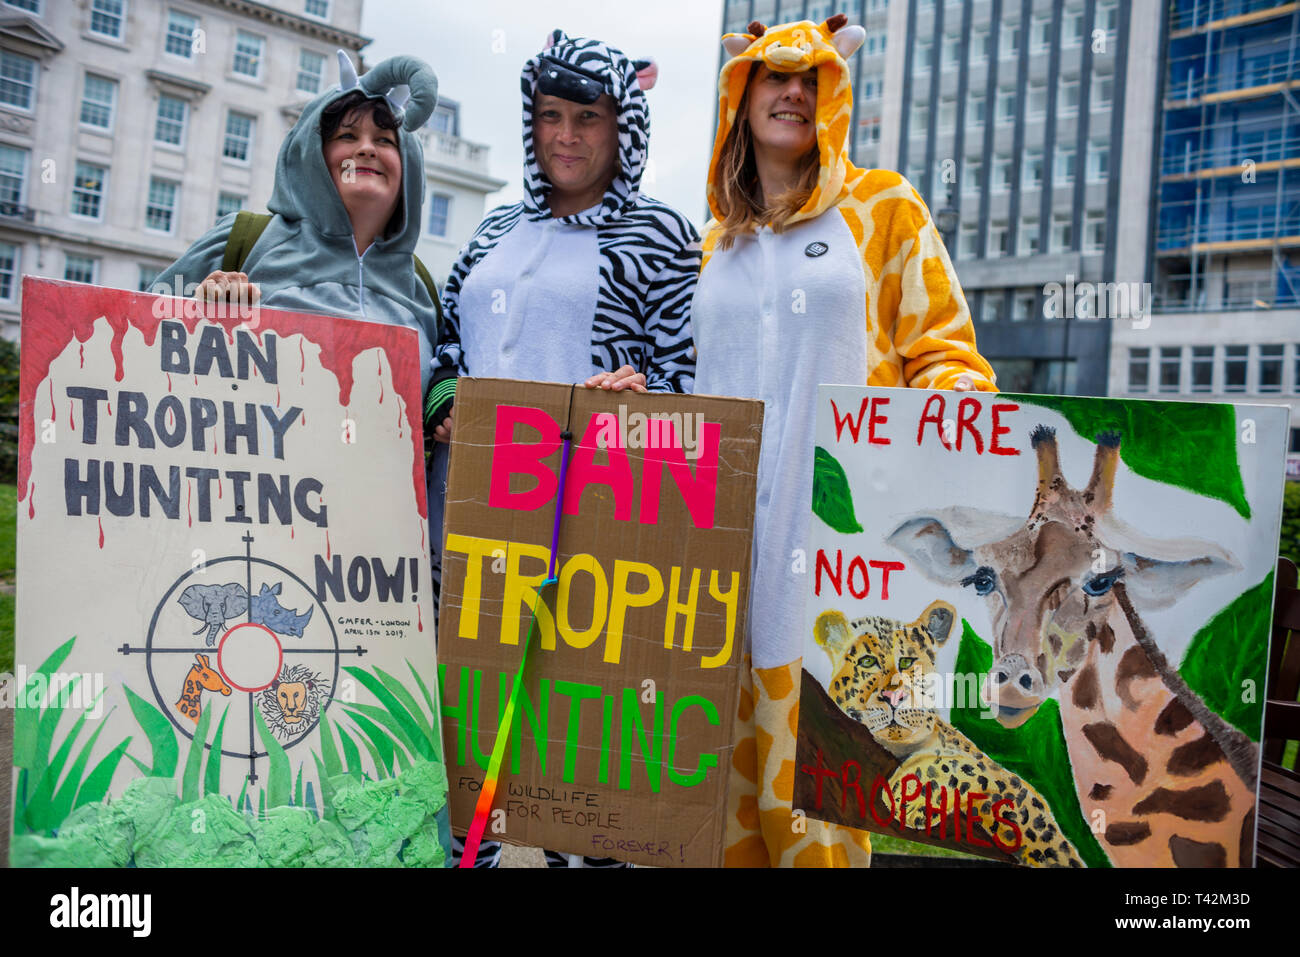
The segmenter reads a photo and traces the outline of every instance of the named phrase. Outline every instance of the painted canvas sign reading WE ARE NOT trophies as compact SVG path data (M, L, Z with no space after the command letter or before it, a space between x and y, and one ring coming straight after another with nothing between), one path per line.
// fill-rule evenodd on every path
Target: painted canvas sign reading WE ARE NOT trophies
M1287 410L820 386L796 806L1249 866Z

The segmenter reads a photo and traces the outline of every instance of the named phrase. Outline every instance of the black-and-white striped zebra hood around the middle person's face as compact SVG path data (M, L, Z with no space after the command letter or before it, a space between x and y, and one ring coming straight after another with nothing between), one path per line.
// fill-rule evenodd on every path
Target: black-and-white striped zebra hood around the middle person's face
M559 218L560 222L572 225L601 226L620 218L636 205L650 148L650 109L637 81L636 68L623 51L599 40L571 39L563 30L554 30L547 42L550 46L524 64L520 78L524 94L524 215L530 220L551 218L551 183L537 163L533 148L533 95L537 91L541 57L546 53L573 66L603 74L619 104L619 172L614 182L595 211Z

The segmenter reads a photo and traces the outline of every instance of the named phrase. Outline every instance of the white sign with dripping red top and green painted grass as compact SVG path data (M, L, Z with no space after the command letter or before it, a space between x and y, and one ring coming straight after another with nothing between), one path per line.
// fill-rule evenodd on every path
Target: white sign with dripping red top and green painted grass
M22 324L13 863L443 866L415 333Z

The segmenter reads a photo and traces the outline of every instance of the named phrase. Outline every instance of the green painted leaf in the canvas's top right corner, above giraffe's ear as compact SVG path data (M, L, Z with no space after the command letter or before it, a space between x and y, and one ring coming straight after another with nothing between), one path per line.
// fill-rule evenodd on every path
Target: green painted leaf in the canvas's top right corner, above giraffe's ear
M1000 398L1041 406L1065 416L1088 441L1101 432L1118 432L1119 458L1152 481L1217 498L1251 518L1242 469L1236 462L1236 412L1232 406L1196 402L1096 402L1074 395Z

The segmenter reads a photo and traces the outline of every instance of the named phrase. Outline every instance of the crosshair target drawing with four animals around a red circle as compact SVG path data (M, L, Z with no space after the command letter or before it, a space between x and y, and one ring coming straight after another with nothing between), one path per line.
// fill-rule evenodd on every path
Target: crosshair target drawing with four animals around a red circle
M285 750L306 741L334 700L342 657L365 649L339 648L329 610L307 583L255 558L251 534L242 541L243 555L178 577L155 607L144 645L117 650L144 655L159 709L186 737L194 739L204 709L220 709L221 753L247 759L256 781L266 752L255 715ZM209 716L209 737L220 720Z

